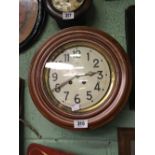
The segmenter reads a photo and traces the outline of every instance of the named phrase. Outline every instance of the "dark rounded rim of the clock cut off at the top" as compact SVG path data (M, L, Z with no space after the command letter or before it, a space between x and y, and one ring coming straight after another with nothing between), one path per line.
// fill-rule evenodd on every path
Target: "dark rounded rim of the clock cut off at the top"
M71 12L74 12L74 19L72 20L75 20L77 19L78 17L80 17L83 13L85 13L88 8L90 7L91 5L91 2L92 0L85 0L83 2L83 4L78 8L76 9L75 11L71 11ZM63 20L62 19L62 13L63 11L59 11L57 10L51 3L50 3L50 0L44 0L44 4L45 4L45 7L48 11L48 13L54 17L56 20ZM65 20L67 21L67 20ZM69 20L70 21L70 20Z

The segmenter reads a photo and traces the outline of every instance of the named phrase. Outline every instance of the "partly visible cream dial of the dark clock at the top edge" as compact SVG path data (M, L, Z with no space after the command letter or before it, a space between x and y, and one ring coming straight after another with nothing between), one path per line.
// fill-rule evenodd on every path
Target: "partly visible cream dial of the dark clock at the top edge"
M61 12L77 10L85 0L52 0L52 5Z

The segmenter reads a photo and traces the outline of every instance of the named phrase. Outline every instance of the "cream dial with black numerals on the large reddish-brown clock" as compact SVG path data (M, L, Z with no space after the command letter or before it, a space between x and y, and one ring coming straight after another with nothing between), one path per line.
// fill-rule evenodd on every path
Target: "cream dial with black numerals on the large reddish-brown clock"
M49 95L71 111L75 106L84 110L97 105L109 91L112 78L106 58L86 46L70 47L51 56L44 73Z

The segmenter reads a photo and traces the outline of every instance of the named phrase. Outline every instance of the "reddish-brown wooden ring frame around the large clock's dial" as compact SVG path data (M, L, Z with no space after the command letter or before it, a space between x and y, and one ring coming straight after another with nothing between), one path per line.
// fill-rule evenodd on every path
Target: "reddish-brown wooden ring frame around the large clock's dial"
M108 98L97 108L82 113L68 113L51 104L43 84L44 66L52 52L65 44L75 42L86 42L104 49L103 55L113 64L116 77ZM38 50L30 68L29 89L36 107L50 121L74 130L74 120L87 119L88 129L93 129L111 121L125 105L131 89L131 78L131 67L127 54L116 40L105 32L93 28L72 27L64 29L50 38Z

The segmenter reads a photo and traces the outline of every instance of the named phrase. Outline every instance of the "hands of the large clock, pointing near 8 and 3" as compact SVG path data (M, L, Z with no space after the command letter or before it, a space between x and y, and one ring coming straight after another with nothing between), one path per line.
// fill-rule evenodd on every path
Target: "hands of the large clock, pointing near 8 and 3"
M73 79L75 79L75 78L80 78L80 77L83 77L83 76L94 76L94 75L97 74L97 73L98 73L98 71L97 71L97 72L92 72L92 71L90 71L90 72L85 73L85 74L75 75L75 76L71 77L70 79L68 79L67 81L61 83L57 88L59 88L59 89L62 88L62 87L65 86L69 81L71 81L71 80L73 80ZM52 92L53 92L53 91L55 91L55 88L52 89Z

